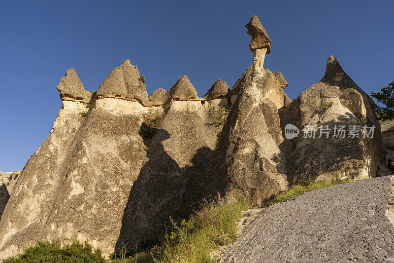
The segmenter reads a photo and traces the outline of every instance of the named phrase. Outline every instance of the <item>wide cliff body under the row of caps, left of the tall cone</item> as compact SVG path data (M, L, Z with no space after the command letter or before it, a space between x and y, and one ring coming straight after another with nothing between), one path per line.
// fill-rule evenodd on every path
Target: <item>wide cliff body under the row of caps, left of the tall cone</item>
M211 124L221 108L174 101L161 127L152 131L144 121L155 107L124 113L101 103L105 100L138 104L101 98L81 122L80 112L87 108L64 101L2 215L1 259L53 239L63 244L89 240L109 255L123 241L137 246L145 238L162 237L169 216L185 218L201 202L221 130ZM188 103L193 105L177 108Z

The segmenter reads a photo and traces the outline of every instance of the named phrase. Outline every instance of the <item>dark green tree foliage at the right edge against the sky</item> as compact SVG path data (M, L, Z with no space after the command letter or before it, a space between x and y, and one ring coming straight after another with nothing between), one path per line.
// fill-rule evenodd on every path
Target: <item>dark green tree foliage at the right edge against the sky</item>
M383 104L383 107L374 103L373 107L380 120L394 119L394 81L380 89L380 92L371 92L371 97Z

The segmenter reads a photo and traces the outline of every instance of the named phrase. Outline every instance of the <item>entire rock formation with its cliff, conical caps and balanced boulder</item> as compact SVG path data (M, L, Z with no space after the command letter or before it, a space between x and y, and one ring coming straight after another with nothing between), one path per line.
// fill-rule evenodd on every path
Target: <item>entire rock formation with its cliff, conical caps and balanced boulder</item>
M371 99L330 57L323 79L291 102L283 75L263 69L271 41L258 17L246 27L255 68L230 91L216 81L202 99L186 75L148 97L129 60L95 94L68 70L49 136L1 192L0 259L53 239L89 240L109 255L162 238L170 216L179 222L218 192L259 205L303 178L374 177L384 156ZM366 138L289 140L288 123L376 129Z

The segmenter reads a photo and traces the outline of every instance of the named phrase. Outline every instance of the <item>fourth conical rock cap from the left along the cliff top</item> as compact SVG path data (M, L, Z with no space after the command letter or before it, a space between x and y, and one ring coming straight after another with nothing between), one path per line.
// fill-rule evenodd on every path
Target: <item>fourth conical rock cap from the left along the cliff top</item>
M173 101L198 100L197 90L190 83L187 75L181 76L168 91L169 98Z

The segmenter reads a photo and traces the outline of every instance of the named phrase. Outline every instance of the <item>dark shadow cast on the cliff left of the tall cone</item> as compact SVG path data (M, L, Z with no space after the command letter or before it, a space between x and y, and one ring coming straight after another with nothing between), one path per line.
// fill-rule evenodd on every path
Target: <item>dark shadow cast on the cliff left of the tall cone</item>
M188 218L202 201L203 182L213 150L201 147L192 165L180 167L162 144L171 134L162 128L142 123L140 136L148 151L148 161L134 182L121 222L115 251L126 245L128 251L160 243L171 219L178 223Z

